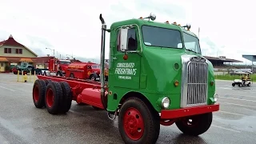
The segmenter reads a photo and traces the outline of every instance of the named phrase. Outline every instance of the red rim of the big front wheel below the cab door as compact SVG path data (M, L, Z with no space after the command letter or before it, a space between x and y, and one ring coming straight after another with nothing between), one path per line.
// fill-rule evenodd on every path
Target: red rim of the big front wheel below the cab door
M133 107L126 110L123 117L123 127L126 135L130 139L136 141L139 138L142 138L144 132L144 121L142 114Z

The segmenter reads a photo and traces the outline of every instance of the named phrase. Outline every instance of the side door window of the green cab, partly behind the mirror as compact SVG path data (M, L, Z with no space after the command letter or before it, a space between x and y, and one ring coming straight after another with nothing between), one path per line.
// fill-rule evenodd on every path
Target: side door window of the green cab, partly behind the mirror
M117 50L120 50L119 47L119 40L120 40L120 31L118 30L118 35L117 35ZM138 49L138 39L136 35L136 29L130 29L128 30L128 37L127 37L127 42L128 42L128 50L137 50Z

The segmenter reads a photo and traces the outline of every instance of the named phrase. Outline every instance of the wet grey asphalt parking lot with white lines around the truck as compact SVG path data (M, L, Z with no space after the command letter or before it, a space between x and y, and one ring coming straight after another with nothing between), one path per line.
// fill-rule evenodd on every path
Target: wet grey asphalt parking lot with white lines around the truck
M0 144L123 143L117 119L111 121L106 111L73 102L67 114L51 115L35 108L32 87L33 82L17 82L17 75L0 74ZM230 81L217 81L217 93L221 108L205 134L189 137L175 125L161 126L158 143L254 144L256 83L233 87Z

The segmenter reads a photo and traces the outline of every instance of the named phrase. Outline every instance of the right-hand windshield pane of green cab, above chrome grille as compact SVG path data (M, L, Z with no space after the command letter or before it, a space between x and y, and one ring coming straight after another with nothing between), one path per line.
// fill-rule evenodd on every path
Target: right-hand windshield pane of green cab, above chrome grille
M185 44L186 50L193 50L194 52L201 54L198 38L190 34L186 34L184 32L183 32L183 38L184 38L184 44Z

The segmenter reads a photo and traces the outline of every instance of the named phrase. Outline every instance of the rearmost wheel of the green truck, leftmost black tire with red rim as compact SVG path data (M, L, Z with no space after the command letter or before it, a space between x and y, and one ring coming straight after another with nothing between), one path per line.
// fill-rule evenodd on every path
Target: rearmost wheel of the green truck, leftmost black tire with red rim
M35 107L42 108L45 106L45 93L46 82L44 82L42 79L35 80L32 92Z

